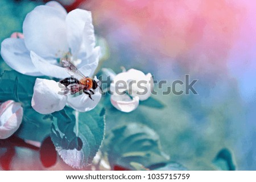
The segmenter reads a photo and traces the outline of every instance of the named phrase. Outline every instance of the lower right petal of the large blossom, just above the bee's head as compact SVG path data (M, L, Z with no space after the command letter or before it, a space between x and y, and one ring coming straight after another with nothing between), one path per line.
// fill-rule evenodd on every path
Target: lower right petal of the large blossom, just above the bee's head
M92 77L94 71L96 70L96 68L98 66L99 58L100 58L100 47L97 46L93 50L93 54L88 59L82 61L82 63L79 65L79 66L81 66L79 68L81 73L83 73L87 77Z

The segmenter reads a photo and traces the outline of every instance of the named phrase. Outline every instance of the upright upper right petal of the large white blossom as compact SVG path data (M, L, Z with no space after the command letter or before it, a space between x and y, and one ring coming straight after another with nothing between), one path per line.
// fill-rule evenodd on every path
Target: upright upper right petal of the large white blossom
M67 36L72 54L77 54L81 48L89 57L95 46L92 14L90 11L76 9L68 13Z

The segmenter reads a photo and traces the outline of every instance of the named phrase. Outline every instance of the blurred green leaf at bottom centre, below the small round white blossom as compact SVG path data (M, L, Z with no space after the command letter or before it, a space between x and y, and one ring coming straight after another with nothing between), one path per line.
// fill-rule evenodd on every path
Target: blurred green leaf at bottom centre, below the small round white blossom
M135 170L133 162L148 168L153 164L166 163L169 159L161 149L158 134L137 123L113 129L106 137L103 150L108 154L112 169L122 166Z

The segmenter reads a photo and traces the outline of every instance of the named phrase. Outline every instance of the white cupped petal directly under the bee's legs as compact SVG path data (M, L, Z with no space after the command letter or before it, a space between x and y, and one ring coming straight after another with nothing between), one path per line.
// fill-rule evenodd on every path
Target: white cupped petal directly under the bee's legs
M79 96L69 96L68 97L68 105L70 105L73 109L76 109L80 112L86 112L92 110L101 100L100 89L97 87L94 90L95 94L91 95L92 99L89 98L88 95L82 93Z

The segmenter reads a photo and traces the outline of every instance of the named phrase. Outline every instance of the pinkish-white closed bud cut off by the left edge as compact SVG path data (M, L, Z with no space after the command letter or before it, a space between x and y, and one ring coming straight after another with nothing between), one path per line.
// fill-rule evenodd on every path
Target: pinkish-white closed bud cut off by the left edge
M13 100L5 101L0 106L0 139L10 137L19 128L23 117L23 108Z

